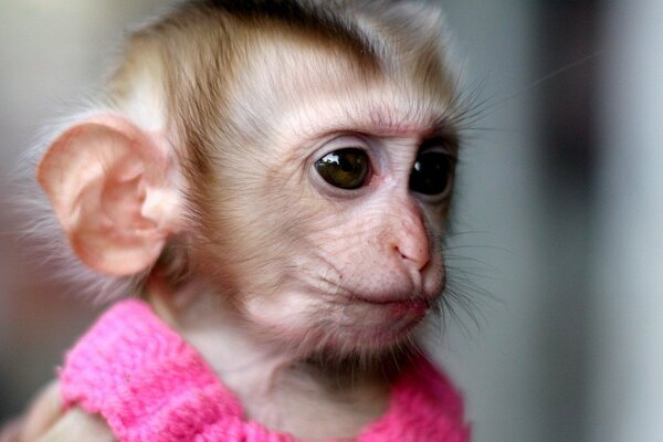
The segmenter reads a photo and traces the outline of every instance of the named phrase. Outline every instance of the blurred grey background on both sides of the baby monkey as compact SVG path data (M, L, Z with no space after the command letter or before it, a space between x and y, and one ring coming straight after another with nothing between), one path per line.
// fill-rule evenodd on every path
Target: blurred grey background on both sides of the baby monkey
M0 0L1 177L167 3ZM663 441L663 0L441 3L480 98L449 251L464 297L431 347L474 441ZM0 421L98 312L21 257L20 224L0 207Z

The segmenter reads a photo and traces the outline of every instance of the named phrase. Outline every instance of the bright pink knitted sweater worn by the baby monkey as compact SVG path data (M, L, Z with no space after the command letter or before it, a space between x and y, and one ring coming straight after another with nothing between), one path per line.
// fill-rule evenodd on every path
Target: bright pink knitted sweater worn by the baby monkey
M244 420L198 351L138 301L105 313L69 352L60 378L66 407L103 415L122 442L296 441ZM357 441L465 442L469 434L459 394L422 358Z

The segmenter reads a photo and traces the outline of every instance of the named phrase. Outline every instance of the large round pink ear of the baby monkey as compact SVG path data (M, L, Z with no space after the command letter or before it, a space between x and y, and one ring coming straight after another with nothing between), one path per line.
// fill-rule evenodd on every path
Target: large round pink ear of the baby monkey
M90 267L138 273L178 230L173 160L164 147L159 136L103 115L69 127L41 159L39 183Z

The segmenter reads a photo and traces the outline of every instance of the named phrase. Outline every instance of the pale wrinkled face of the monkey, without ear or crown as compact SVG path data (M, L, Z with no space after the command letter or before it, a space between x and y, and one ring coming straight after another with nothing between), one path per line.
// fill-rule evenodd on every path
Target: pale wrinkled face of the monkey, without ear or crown
M443 290L457 146L446 95L329 63L252 91L263 108L242 125L263 134L218 164L206 260L231 269L218 284L232 281L239 311L269 336L373 351L402 343Z

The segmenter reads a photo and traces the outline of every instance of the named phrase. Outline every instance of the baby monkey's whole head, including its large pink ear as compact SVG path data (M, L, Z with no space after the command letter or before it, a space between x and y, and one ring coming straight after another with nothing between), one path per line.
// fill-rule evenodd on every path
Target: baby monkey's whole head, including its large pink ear
M188 2L136 32L39 166L80 260L306 351L404 341L444 287L454 80L435 10L357 3Z

